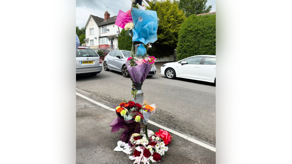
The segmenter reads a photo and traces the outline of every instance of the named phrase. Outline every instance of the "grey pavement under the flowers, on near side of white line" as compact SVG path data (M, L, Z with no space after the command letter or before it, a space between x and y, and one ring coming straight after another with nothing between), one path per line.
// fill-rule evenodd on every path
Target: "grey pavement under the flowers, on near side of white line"
M115 105L90 92L78 88L76 92L106 106ZM115 112L76 95L76 164L132 164L134 162L128 159L124 152L113 151L123 132L123 129L120 129L116 133L111 133L109 124L114 118L116 118ZM148 123L148 129L156 132L160 128ZM167 145L169 156L162 156L165 161L159 163L216 163L216 152L175 134L171 135L174 140Z

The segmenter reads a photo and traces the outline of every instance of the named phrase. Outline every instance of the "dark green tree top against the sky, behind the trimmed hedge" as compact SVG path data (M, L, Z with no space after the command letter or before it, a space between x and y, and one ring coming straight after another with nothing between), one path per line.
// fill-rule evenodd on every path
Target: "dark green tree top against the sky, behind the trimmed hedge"
M179 7L185 12L185 16L189 17L194 14L209 13L212 5L206 6L208 0L180 0Z

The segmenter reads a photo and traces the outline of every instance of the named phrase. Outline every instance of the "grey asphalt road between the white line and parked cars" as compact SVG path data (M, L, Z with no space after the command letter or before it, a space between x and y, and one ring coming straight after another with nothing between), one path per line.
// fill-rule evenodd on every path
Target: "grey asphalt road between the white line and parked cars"
M216 97L214 84L189 79L167 79L160 75L146 78L142 85L144 100L155 103L149 118L158 124L216 147ZM95 76L76 76L76 89L117 105L132 100L132 82L120 72L104 71ZM79 93L79 92L78 92ZM77 108L76 108L77 110Z

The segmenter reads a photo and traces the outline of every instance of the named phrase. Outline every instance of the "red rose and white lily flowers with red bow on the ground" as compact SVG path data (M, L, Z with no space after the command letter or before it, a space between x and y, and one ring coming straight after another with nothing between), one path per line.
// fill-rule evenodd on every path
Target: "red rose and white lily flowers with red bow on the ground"
M159 129L159 132L154 134L152 130L147 130L146 125L145 131L141 133L134 133L130 138L132 147L130 154L127 155L130 160L135 160L134 164L140 162L144 164L156 163L162 160L162 155L168 155L165 153L168 151L166 145L171 143L172 139L168 131ZM162 133L163 135L161 135Z

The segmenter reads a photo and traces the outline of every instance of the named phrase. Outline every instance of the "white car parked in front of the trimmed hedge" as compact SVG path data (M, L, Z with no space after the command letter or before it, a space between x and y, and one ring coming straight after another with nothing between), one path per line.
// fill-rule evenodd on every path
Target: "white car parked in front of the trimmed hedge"
M168 79L176 77L216 83L216 55L196 55L163 64L161 74Z

